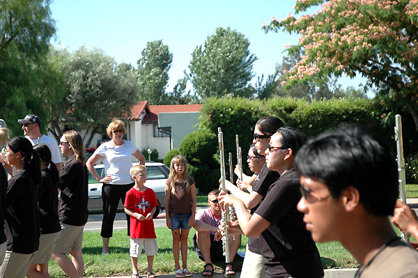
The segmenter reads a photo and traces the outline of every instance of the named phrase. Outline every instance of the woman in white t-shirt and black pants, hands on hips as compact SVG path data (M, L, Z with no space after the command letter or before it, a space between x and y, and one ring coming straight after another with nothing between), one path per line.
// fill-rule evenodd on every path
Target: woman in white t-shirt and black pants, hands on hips
M139 160L140 164L145 164L145 157L138 148L131 141L123 139L123 135L126 133L123 121L115 118L109 123L106 131L111 140L100 145L86 163L93 178L99 183L103 183L103 221L100 235L103 239L102 254L104 255L109 254L109 240L113 233L119 199L125 203L125 194L134 185L129 173L130 167L132 167L132 155ZM100 159L103 160L106 173L104 178L100 178L94 169L94 164ZM129 218L130 216L126 215L128 235L130 231Z

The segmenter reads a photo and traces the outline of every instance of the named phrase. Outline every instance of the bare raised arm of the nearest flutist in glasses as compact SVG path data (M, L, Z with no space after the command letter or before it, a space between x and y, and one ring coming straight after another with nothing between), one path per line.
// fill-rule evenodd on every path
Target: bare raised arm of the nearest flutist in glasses
M270 222L260 215L251 215L244 203L235 196L221 192L218 200L222 208L226 208L226 206L233 206L235 208L235 214L237 215L242 232L248 237L256 238L270 226Z

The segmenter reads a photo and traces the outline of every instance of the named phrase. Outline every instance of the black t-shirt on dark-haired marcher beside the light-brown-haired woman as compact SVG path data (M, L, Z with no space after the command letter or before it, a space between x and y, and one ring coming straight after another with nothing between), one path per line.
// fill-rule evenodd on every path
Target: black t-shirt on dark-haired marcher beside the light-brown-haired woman
M58 187L51 178L49 169L42 170L42 181L38 187L38 207L40 233L61 231L58 217Z

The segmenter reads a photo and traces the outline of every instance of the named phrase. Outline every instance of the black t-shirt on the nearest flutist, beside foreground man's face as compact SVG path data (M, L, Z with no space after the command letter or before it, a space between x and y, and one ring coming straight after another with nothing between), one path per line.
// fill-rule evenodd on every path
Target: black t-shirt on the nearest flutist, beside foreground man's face
M296 209L301 198L299 187L299 176L294 169L286 171L269 187L255 212L271 223L260 236L261 254L265 263L280 261L295 278L323 277L318 249L305 228L303 214Z

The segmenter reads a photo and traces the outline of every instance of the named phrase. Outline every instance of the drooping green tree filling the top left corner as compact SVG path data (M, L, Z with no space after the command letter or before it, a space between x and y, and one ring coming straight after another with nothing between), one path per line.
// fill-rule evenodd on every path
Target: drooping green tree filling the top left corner
M22 134L17 118L26 114L38 114L47 122L41 100L45 99L46 55L54 33L49 1L0 2L0 114L13 135Z

